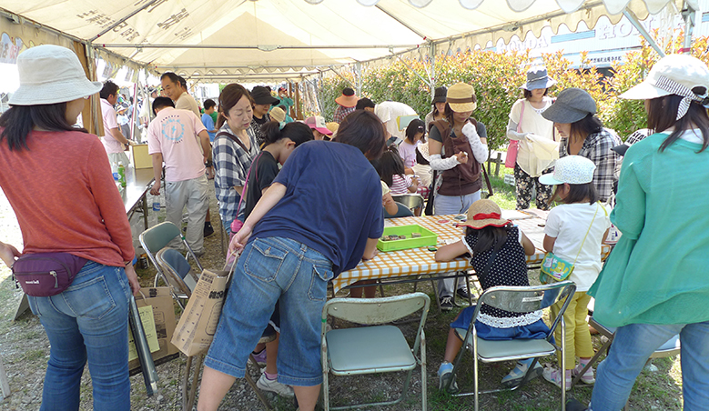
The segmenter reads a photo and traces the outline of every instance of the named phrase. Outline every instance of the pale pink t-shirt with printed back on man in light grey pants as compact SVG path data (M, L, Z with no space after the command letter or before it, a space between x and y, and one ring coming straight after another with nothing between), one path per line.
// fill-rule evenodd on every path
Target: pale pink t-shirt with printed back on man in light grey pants
M198 145L199 132L207 130L197 115L166 107L147 126L147 153L162 153L165 181L185 181L205 174Z

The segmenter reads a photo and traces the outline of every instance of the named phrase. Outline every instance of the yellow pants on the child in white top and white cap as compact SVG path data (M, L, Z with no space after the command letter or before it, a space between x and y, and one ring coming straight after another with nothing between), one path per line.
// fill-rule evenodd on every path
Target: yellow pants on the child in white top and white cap
M572 369L576 366L576 356L588 358L595 354L593 352L593 344L591 343L591 333L588 330L588 303L591 301L591 296L585 292L578 292L572 296L569 306L563 313L563 321L566 323L566 335L563 336L566 340L566 349L564 356L566 357L566 369ZM550 307L552 311L551 318L556 318L559 311L562 310L563 300ZM562 325L556 327L554 331L556 343L561 346ZM562 366L562 358L559 358L559 366Z

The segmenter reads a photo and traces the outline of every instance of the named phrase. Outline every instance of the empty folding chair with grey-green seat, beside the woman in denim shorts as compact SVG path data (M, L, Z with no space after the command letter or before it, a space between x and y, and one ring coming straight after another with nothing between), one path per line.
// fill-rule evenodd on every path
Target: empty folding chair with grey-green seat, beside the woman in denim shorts
M421 409L426 410L426 336L423 325L429 312L430 298L423 293L386 298L333 298L322 309L322 391L325 411L360 406L389 406L400 403L407 394L411 373L417 364L421 367ZM409 346L396 326L382 326L404 316L421 311L416 340ZM328 316L359 324L378 325L327 331ZM415 356L420 351L420 356ZM401 396L393 401L329 406L328 376L355 376L361 374L408 371Z

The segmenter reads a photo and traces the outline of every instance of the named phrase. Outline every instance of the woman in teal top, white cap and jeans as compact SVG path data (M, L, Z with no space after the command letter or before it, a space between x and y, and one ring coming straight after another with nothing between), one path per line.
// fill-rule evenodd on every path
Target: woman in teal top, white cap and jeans
M667 55L621 98L645 100L654 134L628 148L613 224L623 233L589 290L618 327L589 409L625 405L647 358L679 334L684 409L709 407L709 67ZM567 407L583 409L580 403Z

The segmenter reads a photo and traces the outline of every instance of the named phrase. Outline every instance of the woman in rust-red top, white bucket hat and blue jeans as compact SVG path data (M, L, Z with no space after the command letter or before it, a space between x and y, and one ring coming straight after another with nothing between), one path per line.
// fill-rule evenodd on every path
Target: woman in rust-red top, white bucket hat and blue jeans
M22 230L23 257L61 259L76 274L59 294L28 290L51 345L40 409L79 409L88 362L93 409L127 411L128 300L140 289L133 236L106 149L74 127L102 85L58 45L26 50L17 68L20 87L0 117L0 186ZM0 243L0 256L21 266L12 246Z

